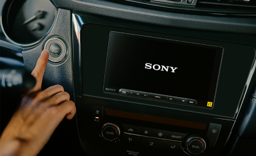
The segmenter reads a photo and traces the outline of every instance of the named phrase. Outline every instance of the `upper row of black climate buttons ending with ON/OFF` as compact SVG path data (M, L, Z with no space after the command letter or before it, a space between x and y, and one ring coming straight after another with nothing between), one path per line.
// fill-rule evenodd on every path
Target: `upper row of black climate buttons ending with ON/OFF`
M182 141L187 135L186 133L171 132L167 130L150 129L147 127L138 127L134 125L123 124L124 132L129 134L138 134L140 136L157 137L161 139L170 139L174 141Z

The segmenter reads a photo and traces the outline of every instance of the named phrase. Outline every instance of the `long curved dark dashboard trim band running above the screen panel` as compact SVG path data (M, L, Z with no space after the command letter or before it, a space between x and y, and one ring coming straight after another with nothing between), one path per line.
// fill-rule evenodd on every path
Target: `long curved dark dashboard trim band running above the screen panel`
M52 0L58 8L104 17L201 31L256 35L256 18L228 18L161 12L99 0Z

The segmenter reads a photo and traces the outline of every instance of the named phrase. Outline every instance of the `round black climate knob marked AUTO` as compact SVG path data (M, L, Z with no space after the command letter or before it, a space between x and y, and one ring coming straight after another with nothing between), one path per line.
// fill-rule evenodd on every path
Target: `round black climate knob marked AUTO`
M105 123L101 129L102 137L108 141L115 141L120 136L120 129L114 123Z

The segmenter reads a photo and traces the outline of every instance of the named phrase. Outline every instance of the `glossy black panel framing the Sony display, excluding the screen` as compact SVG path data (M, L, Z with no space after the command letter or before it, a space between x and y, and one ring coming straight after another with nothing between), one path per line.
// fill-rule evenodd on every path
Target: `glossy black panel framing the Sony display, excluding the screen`
M221 63L214 107L212 109L204 109L193 107L193 105L156 102L153 100L120 96L120 94L110 95L104 93L102 89L106 66L106 56L108 52L109 32L111 31L119 31L124 33L223 47L225 50L223 52L223 59ZM243 51L243 55L241 54L241 51ZM248 45L216 42L213 40L202 40L198 38L187 38L183 36L167 35L163 33L152 33L148 31L125 29L122 27L86 24L83 26L81 31L81 55L83 58L81 61L83 63L84 95L122 100L136 104L157 105L158 107L165 107L169 109L172 108L194 113L204 113L216 116L225 116L227 118L234 118L236 115L237 107L241 102L241 97L243 97L243 91L245 87L244 85L246 84L248 76L251 72L253 61L255 59L255 49ZM239 70L241 68L243 68L243 70ZM238 71L239 74L237 74ZM136 77L136 75L134 75L134 77ZM236 77L236 79L234 79L234 77ZM236 90L232 90L231 88L236 88ZM211 105L209 106L212 107ZM205 103L205 107L207 107L207 103Z

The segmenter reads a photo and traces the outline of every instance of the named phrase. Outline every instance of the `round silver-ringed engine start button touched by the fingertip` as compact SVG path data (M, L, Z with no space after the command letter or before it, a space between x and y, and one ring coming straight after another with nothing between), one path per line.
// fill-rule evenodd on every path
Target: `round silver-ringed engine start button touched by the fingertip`
M67 58L68 47L60 36L54 36L49 38L44 43L44 49L49 51L49 61L52 63L60 63Z

